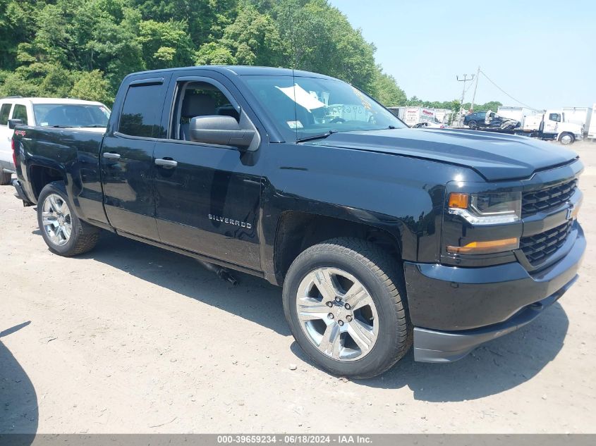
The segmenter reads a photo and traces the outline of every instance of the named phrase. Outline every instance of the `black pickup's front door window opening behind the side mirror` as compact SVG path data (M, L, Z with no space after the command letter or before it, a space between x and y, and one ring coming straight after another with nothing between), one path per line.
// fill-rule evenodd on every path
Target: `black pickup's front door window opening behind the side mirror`
M221 90L208 82L188 82L179 89L174 118L174 139L190 141L190 120L196 116L232 116L238 111Z

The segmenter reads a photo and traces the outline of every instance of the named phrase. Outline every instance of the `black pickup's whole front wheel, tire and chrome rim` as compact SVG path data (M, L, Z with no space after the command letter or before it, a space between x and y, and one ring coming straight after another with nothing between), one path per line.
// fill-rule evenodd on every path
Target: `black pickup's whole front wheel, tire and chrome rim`
M306 249L288 270L283 296L294 339L335 375L377 376L412 344L403 270L370 242L337 238Z

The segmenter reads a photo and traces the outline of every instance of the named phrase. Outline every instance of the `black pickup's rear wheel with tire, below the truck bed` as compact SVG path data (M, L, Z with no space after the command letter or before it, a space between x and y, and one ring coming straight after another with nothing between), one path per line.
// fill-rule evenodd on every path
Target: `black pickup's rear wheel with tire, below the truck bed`
M99 239L99 229L80 221L71 209L62 181L49 183L39 193L37 223L49 250L61 256L88 252Z

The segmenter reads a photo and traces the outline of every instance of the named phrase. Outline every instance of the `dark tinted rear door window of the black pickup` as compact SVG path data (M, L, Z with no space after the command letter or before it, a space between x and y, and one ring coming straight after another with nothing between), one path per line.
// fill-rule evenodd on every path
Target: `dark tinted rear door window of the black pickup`
M129 87L118 123L118 132L130 136L158 137L163 105L162 84Z

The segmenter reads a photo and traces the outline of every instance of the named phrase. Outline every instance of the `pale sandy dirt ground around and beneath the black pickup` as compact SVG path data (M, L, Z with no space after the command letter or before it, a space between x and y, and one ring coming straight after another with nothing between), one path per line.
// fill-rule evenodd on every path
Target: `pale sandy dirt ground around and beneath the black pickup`
M574 148L590 242L596 144ZM530 326L454 364L410 353L353 382L305 359L264 280L231 287L108 233L90 254L56 256L12 187L0 187L0 228L0 432L596 432L595 244Z

